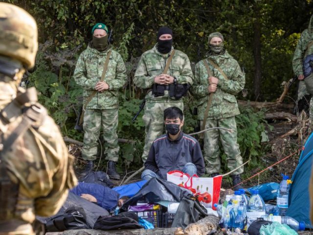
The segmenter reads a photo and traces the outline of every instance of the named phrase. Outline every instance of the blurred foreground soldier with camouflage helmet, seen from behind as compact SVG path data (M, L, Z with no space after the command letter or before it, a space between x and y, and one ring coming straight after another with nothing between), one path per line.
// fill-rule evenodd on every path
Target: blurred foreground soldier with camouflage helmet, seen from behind
M37 25L22 8L0 3L0 235L33 235L35 215L55 214L77 184L58 126L19 87L37 53Z

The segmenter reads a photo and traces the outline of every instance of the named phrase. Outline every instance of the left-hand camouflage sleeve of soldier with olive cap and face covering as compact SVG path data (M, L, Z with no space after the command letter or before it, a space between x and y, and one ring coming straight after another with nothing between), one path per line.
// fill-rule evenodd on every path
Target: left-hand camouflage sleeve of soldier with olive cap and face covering
M205 79L207 79L208 74L201 69L200 61L195 66L195 83L189 89L191 94L193 94L196 98L205 97L209 94L207 90L207 85L201 84L202 77L205 77Z

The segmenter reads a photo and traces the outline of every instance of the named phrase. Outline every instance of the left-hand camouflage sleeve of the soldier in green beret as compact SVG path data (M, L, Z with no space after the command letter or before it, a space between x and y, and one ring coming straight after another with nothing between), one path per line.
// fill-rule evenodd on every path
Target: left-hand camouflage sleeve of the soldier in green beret
M97 81L87 77L86 64L84 61L84 52L81 53L78 57L73 76L75 82L83 89L94 90Z

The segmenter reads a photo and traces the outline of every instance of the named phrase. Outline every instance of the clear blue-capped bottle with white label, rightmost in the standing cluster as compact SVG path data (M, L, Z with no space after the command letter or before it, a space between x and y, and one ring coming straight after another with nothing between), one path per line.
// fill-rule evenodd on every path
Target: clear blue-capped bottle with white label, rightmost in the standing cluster
M256 220L261 218L262 215L265 215L265 203L263 198L259 195L259 190L252 190L252 196L249 199L247 206L247 227Z

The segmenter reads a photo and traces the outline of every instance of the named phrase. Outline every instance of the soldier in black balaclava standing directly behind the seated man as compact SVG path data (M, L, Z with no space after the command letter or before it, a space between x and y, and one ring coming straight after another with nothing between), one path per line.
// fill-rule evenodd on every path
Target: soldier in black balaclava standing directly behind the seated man
M141 55L135 75L134 84L142 89L149 89L144 108L143 121L145 123L145 146L143 148L142 160L147 160L152 142L163 134L164 118L166 108L178 107L183 110L182 99L170 97L168 87L170 84L192 85L194 77L187 55L179 50L175 54L169 66L167 74L162 74L170 54L174 50L173 32L168 27L161 27L157 33L157 44ZM163 95L154 95L152 87L163 87ZM159 86L161 85L161 86Z

